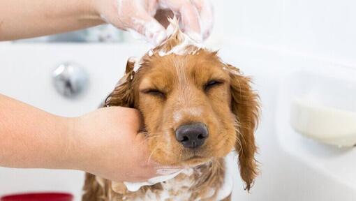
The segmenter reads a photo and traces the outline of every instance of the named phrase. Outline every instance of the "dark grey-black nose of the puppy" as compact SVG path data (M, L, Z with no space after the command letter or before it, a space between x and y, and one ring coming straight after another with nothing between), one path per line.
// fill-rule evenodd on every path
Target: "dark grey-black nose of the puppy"
M186 124L179 126L175 131L175 138L183 144L184 147L194 149L202 146L209 133L207 126L202 123Z

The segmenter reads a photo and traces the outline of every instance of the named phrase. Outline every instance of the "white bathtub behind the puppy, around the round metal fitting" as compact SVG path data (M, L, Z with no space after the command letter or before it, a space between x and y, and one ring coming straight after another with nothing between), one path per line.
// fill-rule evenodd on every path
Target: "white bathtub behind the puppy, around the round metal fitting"
M95 110L123 75L128 57L145 50L145 45L132 44L0 43L0 93L74 117ZM290 80L299 71L348 79L356 77L356 68L248 44L225 44L219 54L251 75L262 101L256 133L260 175L247 193L237 164L230 164L235 168L232 200L356 200L356 149L325 146L295 133L285 98ZM63 62L75 62L87 70L89 87L78 98L64 98L54 89L51 75ZM0 195L64 191L80 200L83 181L80 171L0 168Z

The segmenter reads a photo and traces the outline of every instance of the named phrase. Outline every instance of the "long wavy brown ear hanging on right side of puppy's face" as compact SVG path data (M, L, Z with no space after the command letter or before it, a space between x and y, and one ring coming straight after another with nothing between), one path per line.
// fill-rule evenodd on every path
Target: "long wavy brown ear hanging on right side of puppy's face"
M235 151L239 154L239 169L246 183L245 189L249 191L258 174L254 137L260 110L258 95L251 89L251 80L244 77L239 69L231 65L226 68L230 73L231 108L237 121Z

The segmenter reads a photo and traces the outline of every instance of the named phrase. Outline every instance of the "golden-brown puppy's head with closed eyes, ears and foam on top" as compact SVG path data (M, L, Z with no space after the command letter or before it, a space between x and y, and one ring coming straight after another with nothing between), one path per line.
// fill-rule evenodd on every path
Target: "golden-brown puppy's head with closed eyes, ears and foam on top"
M142 112L151 158L158 163L194 166L235 149L249 189L257 174L257 96L249 78L197 46L176 30L140 64L129 60L124 82L106 105Z

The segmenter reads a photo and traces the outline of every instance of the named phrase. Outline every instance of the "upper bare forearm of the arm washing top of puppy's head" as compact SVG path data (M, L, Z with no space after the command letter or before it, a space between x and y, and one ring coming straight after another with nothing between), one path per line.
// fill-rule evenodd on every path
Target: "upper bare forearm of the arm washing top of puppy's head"
M0 1L0 40L57 34L103 24L92 1Z

